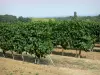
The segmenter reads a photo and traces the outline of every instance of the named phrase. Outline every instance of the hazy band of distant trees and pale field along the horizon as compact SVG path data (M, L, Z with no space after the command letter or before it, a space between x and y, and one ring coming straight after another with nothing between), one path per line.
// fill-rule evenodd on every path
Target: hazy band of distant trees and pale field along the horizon
M48 19L52 19L52 20L72 20L75 17L77 17L78 20L85 20L85 21L95 21L95 22L100 22L100 14L97 16L77 16L77 12L74 12L73 16L67 16L67 17L48 17L48 18L41 18L41 19L37 19L37 18L32 18L32 17L22 17L22 16L14 16L14 15L0 15L0 22L10 22L10 23L16 23L18 21L20 22L32 22L32 21L45 21Z

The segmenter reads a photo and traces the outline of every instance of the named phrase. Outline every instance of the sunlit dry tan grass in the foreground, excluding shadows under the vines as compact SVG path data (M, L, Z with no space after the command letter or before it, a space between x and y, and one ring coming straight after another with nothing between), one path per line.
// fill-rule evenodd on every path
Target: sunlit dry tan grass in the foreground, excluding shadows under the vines
M77 59L67 56L51 55L55 63L52 65L36 65L33 63L0 58L0 75L100 75L100 61ZM45 60L49 60L48 57Z

